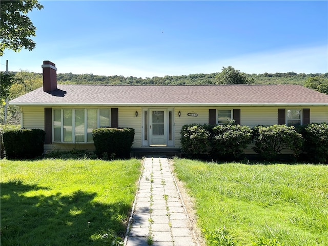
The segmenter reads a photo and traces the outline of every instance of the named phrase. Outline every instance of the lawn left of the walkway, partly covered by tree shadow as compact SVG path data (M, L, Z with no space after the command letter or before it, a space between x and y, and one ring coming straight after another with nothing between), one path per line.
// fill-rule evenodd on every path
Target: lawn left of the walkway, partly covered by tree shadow
M122 245L140 160L1 160L2 245Z

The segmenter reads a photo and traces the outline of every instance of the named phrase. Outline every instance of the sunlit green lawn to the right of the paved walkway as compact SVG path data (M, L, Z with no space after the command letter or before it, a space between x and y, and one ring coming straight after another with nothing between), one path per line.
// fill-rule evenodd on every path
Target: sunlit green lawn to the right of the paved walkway
M328 245L328 166L176 158L174 168L209 245Z

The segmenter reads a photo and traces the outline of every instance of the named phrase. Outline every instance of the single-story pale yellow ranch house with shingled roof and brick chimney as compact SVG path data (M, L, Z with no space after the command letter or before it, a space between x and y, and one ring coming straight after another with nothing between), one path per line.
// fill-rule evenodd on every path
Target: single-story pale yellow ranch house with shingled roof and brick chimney
M185 124L304 125L328 122L328 95L300 85L57 85L44 61L43 88L10 101L21 127L46 131L45 151L93 150L92 129L135 129L132 148L180 148Z

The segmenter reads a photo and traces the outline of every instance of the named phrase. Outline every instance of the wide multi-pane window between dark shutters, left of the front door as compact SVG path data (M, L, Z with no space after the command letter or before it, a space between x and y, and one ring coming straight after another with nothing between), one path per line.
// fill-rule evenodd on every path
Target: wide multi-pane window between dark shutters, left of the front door
M93 142L92 130L110 127L109 109L54 109L54 142Z

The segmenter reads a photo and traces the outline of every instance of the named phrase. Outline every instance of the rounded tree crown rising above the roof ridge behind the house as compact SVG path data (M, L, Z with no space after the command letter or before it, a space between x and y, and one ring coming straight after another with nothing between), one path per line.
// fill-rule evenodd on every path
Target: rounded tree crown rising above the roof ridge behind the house
M250 84L252 79L248 79L244 73L229 66L222 67L222 71L216 77L216 84L235 85L235 84Z

